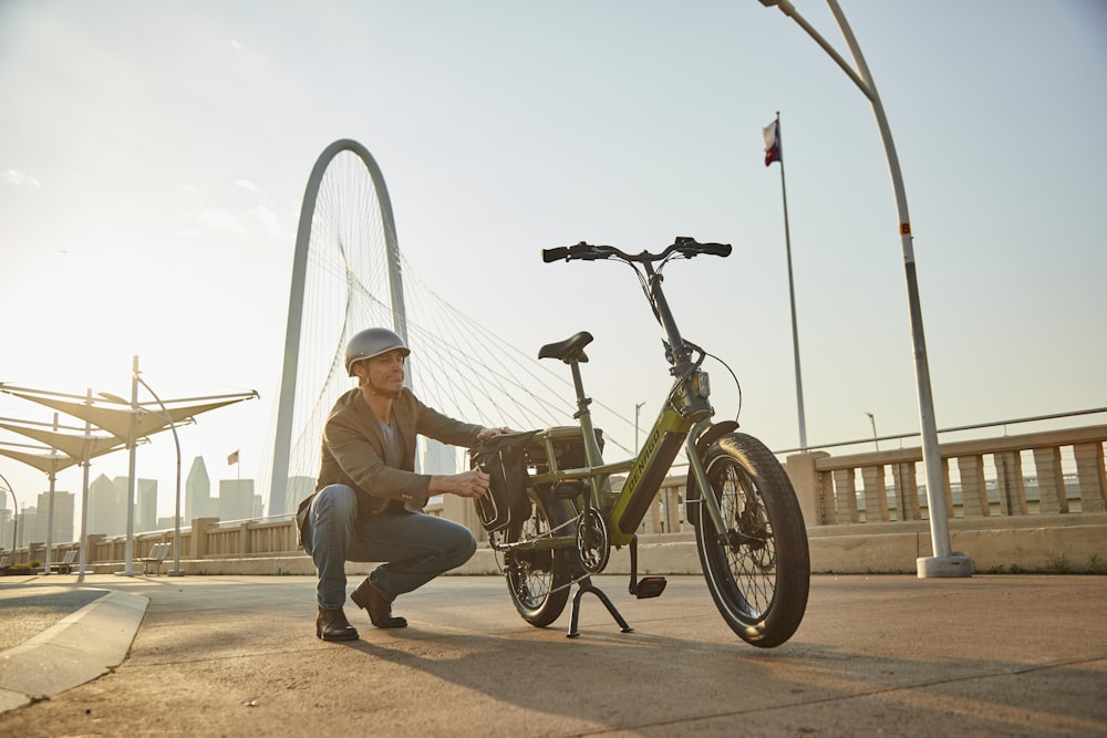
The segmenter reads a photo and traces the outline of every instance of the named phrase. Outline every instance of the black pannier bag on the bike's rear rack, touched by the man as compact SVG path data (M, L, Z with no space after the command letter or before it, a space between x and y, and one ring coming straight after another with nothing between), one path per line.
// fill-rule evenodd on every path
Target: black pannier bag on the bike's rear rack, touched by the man
M518 526L530 517L524 450L537 433L505 433L469 449L473 467L492 477L488 493L473 500L480 524L489 533Z

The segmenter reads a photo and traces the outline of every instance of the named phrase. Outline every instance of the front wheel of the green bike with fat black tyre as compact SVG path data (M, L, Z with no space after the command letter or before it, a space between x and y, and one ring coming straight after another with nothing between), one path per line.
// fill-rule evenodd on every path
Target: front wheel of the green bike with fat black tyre
M796 492L780 462L753 436L723 436L707 447L703 465L726 528L717 533L706 507L699 506L696 548L707 589L743 641L778 646L799 627L810 586Z

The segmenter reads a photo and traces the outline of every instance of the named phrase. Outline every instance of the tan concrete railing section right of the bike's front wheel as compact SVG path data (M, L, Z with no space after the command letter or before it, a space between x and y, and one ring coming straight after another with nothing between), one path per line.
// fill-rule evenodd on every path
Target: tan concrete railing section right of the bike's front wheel
M1107 426L941 444L951 544L977 571L1107 572ZM815 571L932 555L919 448L787 459Z

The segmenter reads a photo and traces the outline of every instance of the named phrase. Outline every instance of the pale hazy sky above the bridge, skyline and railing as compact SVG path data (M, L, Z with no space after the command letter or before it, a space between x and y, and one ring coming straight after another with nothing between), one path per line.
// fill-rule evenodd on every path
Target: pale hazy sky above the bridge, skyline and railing
M848 56L825 3L795 4ZM841 7L902 166L939 427L1107 405L1107 4ZM756 0L0 0L0 382L125 396L137 354L163 398L257 389L182 429L184 474L204 456L214 487L236 449L257 476L303 189L338 138L380 164L426 283L528 353L591 331L589 389L627 415L663 395L638 371L660 335L637 285L539 250L733 243L666 287L686 337L738 373L744 429L779 450L798 446L763 164L779 111L808 440L870 437L866 413L880 435L919 428L871 107ZM51 416L0 395L0 417ZM0 474L20 507L46 488L3 457ZM167 435L138 475L170 514ZM58 489L80 485L74 468Z

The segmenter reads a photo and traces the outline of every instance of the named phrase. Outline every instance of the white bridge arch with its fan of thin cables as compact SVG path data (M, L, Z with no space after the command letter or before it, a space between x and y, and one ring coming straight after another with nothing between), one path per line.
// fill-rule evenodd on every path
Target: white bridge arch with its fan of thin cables
M539 364L537 341L520 351L418 280L400 251L381 168L360 143L340 139L312 167L300 212L272 457L259 475L268 516L291 513L310 495L327 413L353 386L345 344L373 325L392 325L412 347L406 384L447 415L519 429L573 422L568 372ZM632 437L634 423L602 403L593 409L607 415L608 444L629 454L619 438ZM456 449L426 439L420 450L430 472L462 462Z

